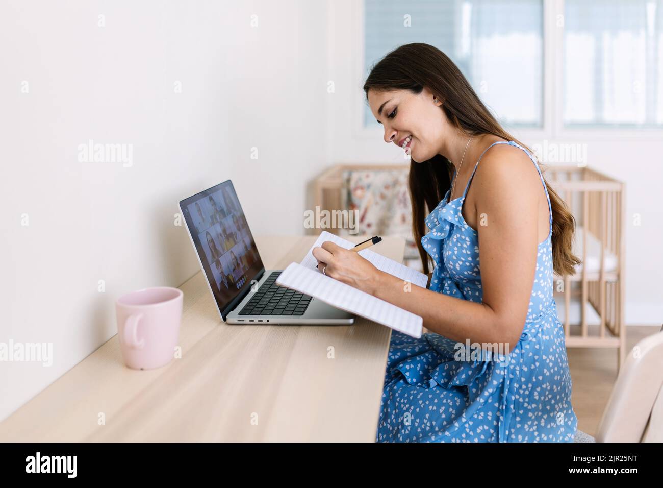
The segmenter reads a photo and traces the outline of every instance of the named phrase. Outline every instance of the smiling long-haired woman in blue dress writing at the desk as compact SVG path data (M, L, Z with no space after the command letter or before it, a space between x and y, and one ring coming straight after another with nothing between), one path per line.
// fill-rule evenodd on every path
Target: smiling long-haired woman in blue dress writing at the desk
M431 331L392 331L377 440L572 442L577 418L552 297L553 270L570 274L579 263L572 215L531 151L437 48L390 52L364 90L385 141L412 158L412 227L429 276L417 287L332 242L313 251L327 275L420 315ZM458 355L468 343L481 354Z

